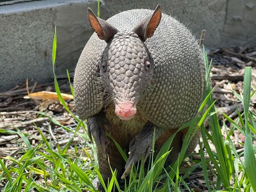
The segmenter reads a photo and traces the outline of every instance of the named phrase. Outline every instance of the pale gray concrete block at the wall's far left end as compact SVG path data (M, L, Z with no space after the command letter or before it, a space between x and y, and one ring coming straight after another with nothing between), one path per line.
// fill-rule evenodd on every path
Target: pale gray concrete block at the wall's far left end
M47 9L0 14L0 90L26 78L49 81L55 14Z

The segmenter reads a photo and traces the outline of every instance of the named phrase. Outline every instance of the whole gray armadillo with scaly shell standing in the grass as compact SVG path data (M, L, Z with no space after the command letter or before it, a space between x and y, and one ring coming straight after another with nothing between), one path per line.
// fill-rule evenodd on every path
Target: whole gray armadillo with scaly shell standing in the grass
M76 111L87 119L104 180L112 176L109 162L117 177L125 178L131 165L150 153L153 134L160 148L195 116L204 91L203 55L191 32L159 5L154 11L128 10L108 20L88 8L88 19L95 33L75 69ZM127 162L106 133L129 152ZM177 158L184 135L176 135L171 159Z

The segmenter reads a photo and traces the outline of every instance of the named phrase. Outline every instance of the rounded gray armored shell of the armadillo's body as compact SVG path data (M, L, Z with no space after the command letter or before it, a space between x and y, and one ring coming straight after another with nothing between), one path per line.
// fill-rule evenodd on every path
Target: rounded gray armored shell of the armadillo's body
M144 9L129 10L120 12L107 21L125 33L152 12ZM199 45L183 24L166 14L162 14L154 35L144 44L154 60L154 83L139 98L137 110L158 127L180 127L195 116L203 97L205 71ZM94 33L76 66L75 102L81 119L87 119L102 110L104 86L98 83L98 78L106 45ZM134 47L129 48L132 54L137 51L137 44L134 43ZM113 54L113 60L115 57L123 56ZM129 56L125 57L130 59Z

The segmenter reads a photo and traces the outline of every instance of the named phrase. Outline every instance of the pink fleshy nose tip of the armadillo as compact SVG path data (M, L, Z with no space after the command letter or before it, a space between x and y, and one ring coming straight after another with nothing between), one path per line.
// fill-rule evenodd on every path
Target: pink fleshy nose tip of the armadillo
M131 103L118 103L115 105L115 114L122 120L132 119L136 112L136 107Z

